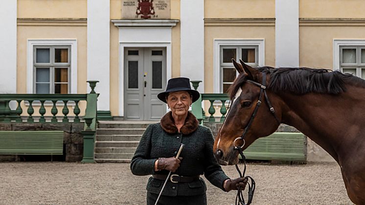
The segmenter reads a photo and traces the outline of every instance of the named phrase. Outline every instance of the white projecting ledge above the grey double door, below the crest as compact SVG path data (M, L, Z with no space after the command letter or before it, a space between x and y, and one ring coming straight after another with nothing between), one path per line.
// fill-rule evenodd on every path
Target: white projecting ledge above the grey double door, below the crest
M138 27L138 26L144 26L144 27L173 27L176 26L177 23L179 23L179 20L175 19L151 19L151 20L112 20L112 23L114 23L117 27Z

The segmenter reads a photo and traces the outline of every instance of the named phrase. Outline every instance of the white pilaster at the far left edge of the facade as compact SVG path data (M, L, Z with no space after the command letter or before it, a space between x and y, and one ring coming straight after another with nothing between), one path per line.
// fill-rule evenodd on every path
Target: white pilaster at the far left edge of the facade
M0 93L17 92L17 1L1 1L0 6Z

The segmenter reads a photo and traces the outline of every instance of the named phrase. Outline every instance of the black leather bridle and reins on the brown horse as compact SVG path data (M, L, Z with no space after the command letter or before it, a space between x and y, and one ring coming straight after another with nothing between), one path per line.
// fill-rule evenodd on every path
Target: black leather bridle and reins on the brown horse
M259 97L258 97L258 101L256 103L256 107L253 110L253 113L251 115L251 119L250 119L249 123L246 125L245 130L244 130L242 136L241 137L237 137L233 141L234 149L239 152L239 154L241 155L241 158L243 160L243 163L245 165L244 170L243 170L243 173L241 173L240 169L238 168L238 165L237 164L235 165L236 166L236 169L238 171L238 174L240 175L241 178L242 177L245 177L245 172L246 172L246 157L245 157L245 155L242 152L242 148L245 145L245 136L246 136L248 130L250 129L250 127L251 127L251 124L253 122L253 119L255 118L255 116L257 114L258 108L260 107L260 105L262 103L262 101L261 101L262 94L265 95L266 103L268 104L271 113L274 115L275 120L277 121L277 123L280 124L280 120L277 118L277 116L275 114L274 107L271 105L271 102L269 100L269 97L268 97L268 95L266 93L266 73L265 72L262 72L262 84L259 84L257 82L251 81L251 80L246 80L245 82L248 82L248 83L250 83L252 85L255 85L255 86L260 87L260 94L259 94ZM239 140L239 139L241 139L243 141L242 146L236 146L236 141ZM236 205L250 205L251 202L252 202L253 193L255 191L256 184L255 184L255 181L252 179L252 177L246 176L245 178L247 178L247 180L249 180L249 179L251 180L251 184L248 183L248 186L249 186L249 198L248 198L247 204L245 204L245 199L243 197L241 187L239 187L238 190L237 190Z

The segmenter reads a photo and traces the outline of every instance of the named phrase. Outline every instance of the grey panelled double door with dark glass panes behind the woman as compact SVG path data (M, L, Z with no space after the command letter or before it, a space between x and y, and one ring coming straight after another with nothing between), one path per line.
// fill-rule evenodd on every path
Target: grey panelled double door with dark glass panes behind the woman
M125 53L125 119L159 120L166 113L157 98L166 87L166 49L129 48Z

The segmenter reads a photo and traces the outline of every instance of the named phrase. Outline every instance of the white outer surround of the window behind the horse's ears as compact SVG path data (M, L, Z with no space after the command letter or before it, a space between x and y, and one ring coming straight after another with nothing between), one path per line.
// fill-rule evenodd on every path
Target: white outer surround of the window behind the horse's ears
M265 65L265 39L214 39L213 45L213 92L222 93L221 48L228 46L258 47L257 66ZM238 60L238 59L237 59Z

